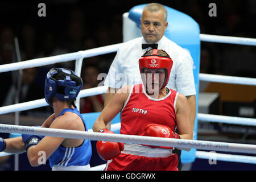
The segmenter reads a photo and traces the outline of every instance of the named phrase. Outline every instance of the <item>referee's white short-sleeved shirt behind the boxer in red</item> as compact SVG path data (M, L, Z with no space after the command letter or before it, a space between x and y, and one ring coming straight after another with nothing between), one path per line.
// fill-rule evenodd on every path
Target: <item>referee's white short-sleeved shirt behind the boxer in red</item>
M142 83L139 59L148 49L151 49L142 49L142 44L146 44L143 37L122 44L109 68L104 85L121 88L125 85ZM174 61L167 86L184 96L195 95L193 60L189 52L165 36L157 44L158 49L166 51Z

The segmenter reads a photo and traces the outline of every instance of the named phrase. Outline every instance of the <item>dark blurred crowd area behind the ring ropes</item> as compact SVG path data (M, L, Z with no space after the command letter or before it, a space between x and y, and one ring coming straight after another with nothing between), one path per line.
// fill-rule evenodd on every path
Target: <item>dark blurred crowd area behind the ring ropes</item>
M18 38L21 61L121 43L122 14L149 2L154 1L45 1L46 17L38 16L36 2L1 2L0 64L18 60L14 38ZM191 16L199 23L201 34L255 38L254 0L158 2ZM211 2L217 5L216 17L208 15ZM255 54L254 46L201 42L200 72L256 77ZM98 73L108 73L114 56L115 53L109 53L83 61L84 89L97 86ZM23 69L22 75L0 73L2 85L5 85L1 88L0 106L15 104L18 77L22 77L19 102L43 98L44 77L52 67L75 69L75 61ZM101 111L103 101L102 96L84 98L81 113ZM43 108L43 111L49 109Z

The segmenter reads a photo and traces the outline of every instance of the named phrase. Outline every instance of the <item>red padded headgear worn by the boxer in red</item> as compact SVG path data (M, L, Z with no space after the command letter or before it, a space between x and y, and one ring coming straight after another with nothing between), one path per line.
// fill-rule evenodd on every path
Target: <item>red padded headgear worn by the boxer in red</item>
M150 51L150 50L148 50L148 51ZM171 57L166 53L166 51L164 51L162 49L152 49L152 50L153 50L153 52L151 55L145 55L148 52L147 51L146 53L144 53L144 55L142 55L142 58L139 59L139 71L141 71L141 73L143 73L144 68L148 68L148 69L164 68L164 70L166 71L166 77L164 78L164 83L162 86L162 88L164 88L164 86L166 86L169 81L173 61L172 61ZM158 51L163 51L168 56L159 56Z

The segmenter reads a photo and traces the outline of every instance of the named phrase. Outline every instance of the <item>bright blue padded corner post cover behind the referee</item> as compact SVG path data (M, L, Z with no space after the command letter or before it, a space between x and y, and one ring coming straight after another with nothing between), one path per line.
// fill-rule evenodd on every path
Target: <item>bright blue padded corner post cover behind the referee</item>
M134 6L130 11L128 17L133 20L137 27L141 27L140 18L144 5ZM199 71L200 71L200 28L199 24L187 14L181 13L171 7L166 7L168 27L164 36L172 40L180 47L187 49L193 59L193 75L196 86L196 110L198 111L198 98L199 98ZM168 53L168 52L167 52ZM171 56L171 55L170 55ZM197 116L195 119L195 133L194 139L197 139ZM195 161L196 149L192 148L191 151L181 152L181 162L191 163Z

